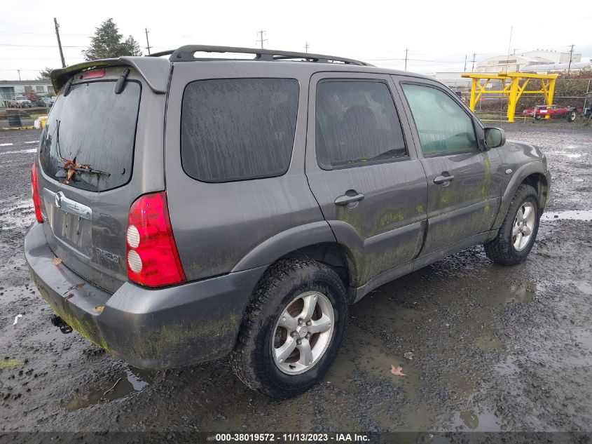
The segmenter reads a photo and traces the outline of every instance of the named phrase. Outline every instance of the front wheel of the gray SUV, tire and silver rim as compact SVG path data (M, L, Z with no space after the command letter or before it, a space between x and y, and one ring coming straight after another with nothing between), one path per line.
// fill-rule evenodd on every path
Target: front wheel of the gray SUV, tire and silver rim
M530 211L527 212L525 208L530 208ZM523 221L520 221L518 217L521 210ZM530 185L522 184L512 198L508 213L497 236L493 241L483 245L487 257L500 265L515 265L522 262L530 253L532 245L535 244L539 231L539 220L537 191ZM527 237L529 231L530 234Z

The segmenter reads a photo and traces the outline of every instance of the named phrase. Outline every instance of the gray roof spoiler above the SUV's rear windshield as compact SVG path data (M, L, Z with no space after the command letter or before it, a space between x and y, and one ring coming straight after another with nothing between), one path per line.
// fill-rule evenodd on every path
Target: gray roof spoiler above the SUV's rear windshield
M126 56L112 59L91 60L71 65L62 69L53 69L50 74L51 83L56 93L59 93L69 79L78 72L88 71L98 67L132 67L144 78L151 90L157 94L167 92L171 63L164 58Z

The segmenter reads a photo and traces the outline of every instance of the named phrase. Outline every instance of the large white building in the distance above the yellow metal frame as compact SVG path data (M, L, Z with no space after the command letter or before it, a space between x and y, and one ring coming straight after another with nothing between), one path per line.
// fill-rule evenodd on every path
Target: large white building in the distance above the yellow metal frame
M521 54L496 55L477 63L476 72L521 72L525 67L534 65L552 65L570 62L578 63L581 60L581 54L558 53L557 51L547 51L537 49ZM567 68L566 68L567 69ZM531 71L532 72L532 71Z

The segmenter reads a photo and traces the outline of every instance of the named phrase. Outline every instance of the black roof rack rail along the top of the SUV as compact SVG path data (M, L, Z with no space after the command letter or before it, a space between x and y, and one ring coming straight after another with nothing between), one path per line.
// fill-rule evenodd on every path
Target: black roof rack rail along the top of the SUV
M241 53L254 54L250 60L261 60L273 62L276 60L300 60L305 62L317 63L343 63L345 65L372 66L369 63L360 60L335 57L333 55L321 55L311 53L294 53L291 51L275 51L273 49L263 48L235 48L233 46L209 46L209 45L186 45L175 49L174 51L161 51L153 53L150 57L160 57L170 55L171 62L190 62L195 60L243 60L236 58L198 58L195 53ZM246 59L249 60L249 59Z

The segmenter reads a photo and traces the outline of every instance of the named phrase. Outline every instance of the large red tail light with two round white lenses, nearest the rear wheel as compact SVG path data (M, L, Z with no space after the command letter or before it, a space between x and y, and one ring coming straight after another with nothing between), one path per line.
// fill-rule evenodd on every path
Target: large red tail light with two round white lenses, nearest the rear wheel
M165 191L146 194L132 203L126 245L130 281L148 287L185 282Z

